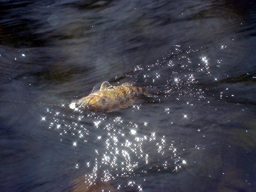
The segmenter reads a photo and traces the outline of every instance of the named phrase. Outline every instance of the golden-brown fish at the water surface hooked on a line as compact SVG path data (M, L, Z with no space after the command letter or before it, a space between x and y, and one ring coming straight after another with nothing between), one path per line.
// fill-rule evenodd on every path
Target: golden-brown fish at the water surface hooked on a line
M71 109L82 109L96 113L108 113L119 109L127 108L149 95L146 87L133 86L133 83L126 82L121 85L112 86L105 81L100 89L86 97L77 99L69 104Z

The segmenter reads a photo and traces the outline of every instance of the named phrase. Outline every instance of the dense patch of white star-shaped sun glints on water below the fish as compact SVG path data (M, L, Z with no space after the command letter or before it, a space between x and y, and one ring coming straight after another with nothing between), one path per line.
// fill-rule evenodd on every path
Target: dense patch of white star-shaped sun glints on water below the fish
M89 142L95 142L99 146L94 149L95 159L86 162L88 172L85 173L84 182L89 186L96 184L98 179L101 182L108 182L118 177L142 176L146 179L147 172L151 170L166 169L176 172L185 168L183 164L186 164L186 160L179 155L174 140L168 140L164 135L155 132L147 135L139 133L140 129L148 126L148 122L127 123L121 117L108 118L104 114L91 112L83 114L86 113L78 110L76 114L70 116L71 122L69 122L63 119L65 114L47 108L43 120L49 123L49 129L59 132L60 141L62 141L61 136L65 134L74 138L70 147L86 145L89 139L91 139ZM93 122L93 128L84 126L85 118ZM95 135L92 129L101 129L101 134ZM80 168L79 164L74 162L74 168ZM126 185L137 185L139 190L143 189L143 183L138 184L136 181L118 184L119 187Z

